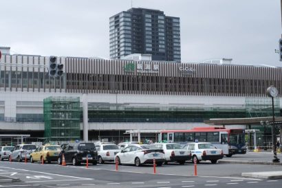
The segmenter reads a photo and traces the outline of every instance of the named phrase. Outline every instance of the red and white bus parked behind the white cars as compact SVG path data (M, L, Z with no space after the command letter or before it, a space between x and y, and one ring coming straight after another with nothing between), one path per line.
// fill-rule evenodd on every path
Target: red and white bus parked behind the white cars
M246 154L245 130L219 127L199 127L191 130L162 130L159 141L189 143L195 141L213 143L224 155Z

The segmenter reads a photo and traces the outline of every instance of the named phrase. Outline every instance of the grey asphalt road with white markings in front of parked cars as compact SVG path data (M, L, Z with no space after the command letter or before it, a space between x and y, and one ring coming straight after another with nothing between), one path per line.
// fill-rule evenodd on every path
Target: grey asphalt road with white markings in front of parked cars
M263 156L264 155L264 156ZM224 160L268 159L269 154L238 155ZM253 159L252 159L253 160ZM20 178L18 183L0 183L0 187L281 187L282 180L242 177L242 172L282 171L281 165L246 165L210 162L197 165L194 176L193 163L171 163L157 167L121 165L116 172L113 163L62 167L56 163L0 162L0 175Z

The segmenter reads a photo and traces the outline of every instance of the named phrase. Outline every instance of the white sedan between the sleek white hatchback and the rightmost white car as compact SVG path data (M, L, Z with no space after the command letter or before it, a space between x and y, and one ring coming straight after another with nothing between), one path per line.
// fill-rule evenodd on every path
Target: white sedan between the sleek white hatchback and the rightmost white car
M179 143L154 143L153 145L164 150L165 164L177 162L183 165L185 161L191 160L191 152L182 149Z

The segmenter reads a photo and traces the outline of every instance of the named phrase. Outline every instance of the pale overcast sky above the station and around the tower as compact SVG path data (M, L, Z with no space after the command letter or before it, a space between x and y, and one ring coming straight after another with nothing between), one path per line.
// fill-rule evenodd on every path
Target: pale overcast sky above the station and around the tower
M109 17L131 0L0 0L0 46L12 54L109 58ZM182 62L233 58L282 66L280 0L133 0L180 17Z

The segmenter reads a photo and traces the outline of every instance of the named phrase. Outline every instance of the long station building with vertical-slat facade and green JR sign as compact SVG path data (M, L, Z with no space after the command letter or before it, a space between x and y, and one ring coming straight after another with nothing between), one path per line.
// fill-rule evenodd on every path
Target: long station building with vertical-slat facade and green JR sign
M89 140L207 126L210 118L271 116L270 85L279 91L281 115L282 67L58 57L63 76L50 78L49 57L3 55L0 62L0 134L43 138L48 97L79 97L82 111L87 96ZM80 130L83 139L82 112Z

